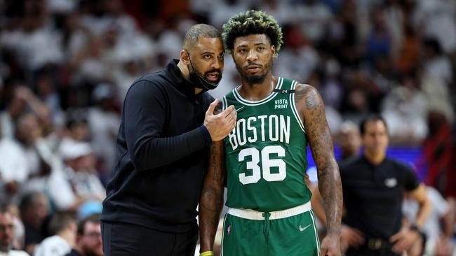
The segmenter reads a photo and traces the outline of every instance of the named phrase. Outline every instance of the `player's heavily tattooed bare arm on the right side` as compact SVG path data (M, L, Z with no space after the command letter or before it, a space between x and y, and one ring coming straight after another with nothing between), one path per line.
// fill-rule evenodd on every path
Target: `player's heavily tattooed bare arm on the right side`
M295 102L316 163L318 187L325 206L328 234L340 234L342 183L323 100L314 87L297 85Z

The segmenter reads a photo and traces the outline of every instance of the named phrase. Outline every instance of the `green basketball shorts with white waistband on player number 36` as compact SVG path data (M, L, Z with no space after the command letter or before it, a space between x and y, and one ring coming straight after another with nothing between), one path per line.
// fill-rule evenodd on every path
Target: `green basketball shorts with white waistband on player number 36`
M271 213L229 208L224 216L222 256L319 256L319 248L310 201Z

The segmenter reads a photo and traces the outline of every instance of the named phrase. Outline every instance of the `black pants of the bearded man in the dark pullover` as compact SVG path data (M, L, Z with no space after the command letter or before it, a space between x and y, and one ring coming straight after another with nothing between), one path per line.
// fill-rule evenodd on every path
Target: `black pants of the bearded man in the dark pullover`
M194 256L198 226L186 233L166 233L126 224L101 222L105 256Z

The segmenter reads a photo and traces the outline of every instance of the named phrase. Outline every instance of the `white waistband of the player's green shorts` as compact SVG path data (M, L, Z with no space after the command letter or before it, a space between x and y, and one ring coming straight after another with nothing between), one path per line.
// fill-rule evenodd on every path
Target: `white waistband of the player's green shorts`
M282 211L271 211L271 215L269 216L269 220L275 219L282 219L288 218L294 215L298 215L300 213L305 213L311 210L310 201L306 204L302 204L300 206L295 206L293 208L288 208ZM228 208L228 214L234 215L239 218L244 218L248 220L264 220L264 215L260 211L254 211L250 209L242 209L242 208Z

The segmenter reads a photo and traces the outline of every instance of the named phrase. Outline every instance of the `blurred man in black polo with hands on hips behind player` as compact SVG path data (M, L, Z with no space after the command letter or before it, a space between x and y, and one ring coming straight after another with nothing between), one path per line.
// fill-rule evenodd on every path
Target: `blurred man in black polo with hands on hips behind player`
M420 237L431 204L409 166L387 157L387 125L380 115L361 122L363 155L340 164L347 215L341 243L346 255L401 255ZM402 225L403 192L420 205L415 223Z

